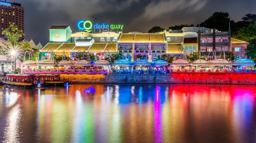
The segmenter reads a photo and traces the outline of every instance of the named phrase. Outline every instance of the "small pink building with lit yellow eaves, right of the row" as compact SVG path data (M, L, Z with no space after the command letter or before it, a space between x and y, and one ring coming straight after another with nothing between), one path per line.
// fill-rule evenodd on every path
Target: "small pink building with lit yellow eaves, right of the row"
M242 40L238 40L238 39L234 39L231 38L231 52L234 53L234 56L237 56L239 54L239 51L245 52L245 49L247 48L247 42L246 41L242 41Z

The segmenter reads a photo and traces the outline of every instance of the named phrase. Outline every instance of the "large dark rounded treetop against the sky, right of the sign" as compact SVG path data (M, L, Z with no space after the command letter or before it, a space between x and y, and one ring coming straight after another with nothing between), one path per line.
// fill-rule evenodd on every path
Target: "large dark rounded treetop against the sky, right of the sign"
M215 12L204 22L202 22L200 26L216 28L219 31L228 31L229 21L229 14L227 12ZM233 23L234 21L231 22Z

